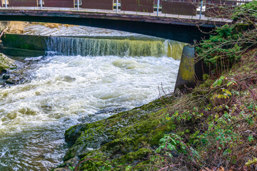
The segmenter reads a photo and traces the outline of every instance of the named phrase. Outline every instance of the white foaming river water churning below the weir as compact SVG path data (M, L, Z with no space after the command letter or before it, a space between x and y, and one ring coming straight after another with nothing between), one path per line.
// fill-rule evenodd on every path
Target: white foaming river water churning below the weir
M64 131L172 91L179 61L168 57L48 56L31 78L0 89L0 170L51 170L66 152Z

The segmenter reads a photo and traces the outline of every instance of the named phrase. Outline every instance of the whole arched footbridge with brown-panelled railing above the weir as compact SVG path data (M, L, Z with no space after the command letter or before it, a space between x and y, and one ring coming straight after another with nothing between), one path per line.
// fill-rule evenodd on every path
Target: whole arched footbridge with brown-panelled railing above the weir
M218 18L241 1L209 0L1 0L1 21L94 26L193 43L231 22ZM226 8L219 8L220 6Z

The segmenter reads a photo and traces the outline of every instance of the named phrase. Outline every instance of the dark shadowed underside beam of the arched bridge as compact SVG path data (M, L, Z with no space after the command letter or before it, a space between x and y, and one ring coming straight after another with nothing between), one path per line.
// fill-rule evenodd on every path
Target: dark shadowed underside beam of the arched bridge
M193 43L208 36L199 31L193 20L166 19L156 16L131 16L124 14L79 13L69 11L3 10L0 21L35 21L74 24L129 31L174 41ZM203 31L211 31L214 24L201 24ZM223 25L219 23L218 25Z

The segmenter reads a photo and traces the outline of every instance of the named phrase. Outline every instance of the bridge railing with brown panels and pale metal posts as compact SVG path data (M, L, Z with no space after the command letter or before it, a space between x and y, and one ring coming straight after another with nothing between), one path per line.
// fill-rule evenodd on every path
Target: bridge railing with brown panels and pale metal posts
M242 0L0 0L0 9L87 11L221 20ZM222 7L222 8L221 8ZM221 17L222 16L222 17ZM222 18L222 19L217 19Z

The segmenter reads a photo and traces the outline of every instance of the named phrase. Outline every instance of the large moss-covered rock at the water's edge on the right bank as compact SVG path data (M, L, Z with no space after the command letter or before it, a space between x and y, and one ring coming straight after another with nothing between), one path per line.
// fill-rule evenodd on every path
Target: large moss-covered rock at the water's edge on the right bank
M166 100L172 99L170 97ZM106 120L69 128L65 138L72 147L66 153L64 161L74 157L86 160L80 165L81 170L94 170L97 162L93 166L93 159L103 161L108 158L118 165L140 162L151 153L146 146L158 145L159 139L171 131L171 125L160 124L161 116L167 112L166 103L163 101L163 98L154 100ZM99 166L102 164L99 162Z

